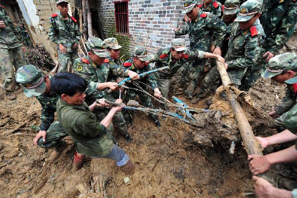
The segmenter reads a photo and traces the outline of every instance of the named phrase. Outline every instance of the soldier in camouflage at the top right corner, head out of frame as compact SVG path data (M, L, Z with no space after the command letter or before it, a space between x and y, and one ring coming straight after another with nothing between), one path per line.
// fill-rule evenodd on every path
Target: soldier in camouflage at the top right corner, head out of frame
M268 61L282 49L292 36L297 23L296 0L266 0L260 23L266 34L261 54L243 79L246 88L250 88L267 67Z

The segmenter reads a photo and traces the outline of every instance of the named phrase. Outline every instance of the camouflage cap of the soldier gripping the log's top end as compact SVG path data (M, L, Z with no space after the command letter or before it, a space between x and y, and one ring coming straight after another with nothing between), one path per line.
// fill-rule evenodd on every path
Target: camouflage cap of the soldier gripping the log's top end
M262 4L257 0L247 0L239 9L239 14L234 21L245 22L261 11Z

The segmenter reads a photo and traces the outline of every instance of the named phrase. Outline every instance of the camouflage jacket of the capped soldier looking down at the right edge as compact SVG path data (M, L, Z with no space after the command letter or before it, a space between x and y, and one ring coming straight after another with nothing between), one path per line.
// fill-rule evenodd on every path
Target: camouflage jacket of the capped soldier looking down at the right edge
M289 111L297 103L297 83L287 84L285 97L282 98L281 103L276 107L275 111L278 115L282 115Z

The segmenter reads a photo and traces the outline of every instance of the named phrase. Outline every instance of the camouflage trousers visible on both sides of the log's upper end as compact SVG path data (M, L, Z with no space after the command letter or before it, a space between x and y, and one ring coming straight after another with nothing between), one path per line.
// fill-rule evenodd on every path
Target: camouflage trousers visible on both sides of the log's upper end
M227 73L229 75L231 82L234 83L236 87L239 87L239 85L241 85L241 80L245 75L246 71L247 71L247 68L230 69L230 70L227 70ZM201 83L201 88L198 93L198 96L204 95L205 91L209 89L219 79L220 79L220 72L215 66L204 77Z

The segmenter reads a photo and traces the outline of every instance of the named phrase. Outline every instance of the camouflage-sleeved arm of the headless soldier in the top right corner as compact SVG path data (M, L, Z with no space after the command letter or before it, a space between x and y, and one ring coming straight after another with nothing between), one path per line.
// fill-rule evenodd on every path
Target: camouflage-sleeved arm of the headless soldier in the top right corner
M268 50L269 52L275 55L280 49L285 46L285 44L295 31L296 23L297 3L291 0L288 13L285 14L285 16L282 18L282 25L277 32L276 38L274 40L274 45Z

